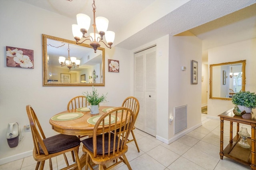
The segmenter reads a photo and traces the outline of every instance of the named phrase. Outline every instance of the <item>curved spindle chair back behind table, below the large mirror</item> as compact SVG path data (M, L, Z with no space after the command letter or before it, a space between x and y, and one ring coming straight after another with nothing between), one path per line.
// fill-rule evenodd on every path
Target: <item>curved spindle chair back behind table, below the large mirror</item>
M78 109L80 107L86 107L89 105L85 96L76 96L72 98L67 105L67 110Z

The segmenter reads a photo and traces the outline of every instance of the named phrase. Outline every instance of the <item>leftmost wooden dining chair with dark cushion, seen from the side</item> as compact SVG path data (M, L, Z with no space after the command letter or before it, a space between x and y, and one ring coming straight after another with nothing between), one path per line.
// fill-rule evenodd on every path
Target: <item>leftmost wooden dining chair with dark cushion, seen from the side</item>
M30 122L32 138L34 142L33 157L37 161L36 170L40 166L40 170L44 169L45 160L49 159L50 170L52 170L52 160L51 158L58 156L60 154L64 155L66 162L66 168L62 170L70 169L72 167L78 167L81 170L80 160L78 157L78 148L80 146L80 139L77 136L71 136L66 134L57 134L46 138L44 131L38 121L36 113L30 105L26 106L26 111L28 114L28 119ZM76 156L76 162L69 165L66 152L74 152Z

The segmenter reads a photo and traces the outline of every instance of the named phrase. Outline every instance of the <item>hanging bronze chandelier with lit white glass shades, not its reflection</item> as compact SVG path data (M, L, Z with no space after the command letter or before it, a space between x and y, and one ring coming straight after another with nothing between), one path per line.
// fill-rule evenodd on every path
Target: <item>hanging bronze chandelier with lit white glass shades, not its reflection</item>
M76 40L76 44L81 44L85 40L90 40L91 42L90 46L94 49L94 53L96 53L97 48L100 47L99 42L103 42L106 45L106 47L111 48L111 45L114 42L115 33L112 31L107 31L108 29L107 18L100 17L100 16L95 18L95 12L96 12L95 0L93 0L92 8L93 8L92 26L93 26L94 32L90 33L90 35L87 37L85 36L85 34L87 33L90 27L91 18L86 14L77 14L76 15L77 24L72 24L72 33ZM98 34L96 33L96 28L98 30ZM108 45L104 41L102 41L104 35ZM86 38L86 39L83 40L82 42L79 42L81 38Z

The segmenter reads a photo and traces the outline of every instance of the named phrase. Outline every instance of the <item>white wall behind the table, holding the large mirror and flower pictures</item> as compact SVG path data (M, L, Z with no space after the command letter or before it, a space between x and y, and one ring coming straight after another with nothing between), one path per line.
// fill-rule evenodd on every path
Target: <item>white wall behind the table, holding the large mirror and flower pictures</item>
M70 19L31 6L19 0L0 0L0 164L32 155L31 132L15 148L9 148L6 140L8 123L18 122L22 128L29 123L26 105L32 105L46 136L56 134L49 119L66 110L68 101L92 87L43 87L42 34L74 40ZM6 67L6 46L34 50L34 69ZM104 47L104 44L102 44ZM96 87L98 92L108 92L109 103L120 106L131 95L130 51L121 48L106 48L105 87ZM108 72L108 59L120 61L120 73ZM133 84L132 84L133 85ZM70 93L66 93L69 91Z

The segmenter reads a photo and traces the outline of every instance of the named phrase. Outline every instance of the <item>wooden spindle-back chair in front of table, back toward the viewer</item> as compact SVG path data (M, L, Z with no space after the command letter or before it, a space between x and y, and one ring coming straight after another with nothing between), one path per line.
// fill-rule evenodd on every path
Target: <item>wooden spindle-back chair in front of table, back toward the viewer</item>
M112 124L108 125L108 122ZM134 113L129 108L116 107L104 113L94 126L92 138L82 140L82 148L86 153L85 169L88 170L89 166L93 170L91 162L98 164L99 170L111 169L124 162L128 169L132 170L125 153L128 151L126 141L134 123ZM107 162L114 160L117 161L106 167Z

